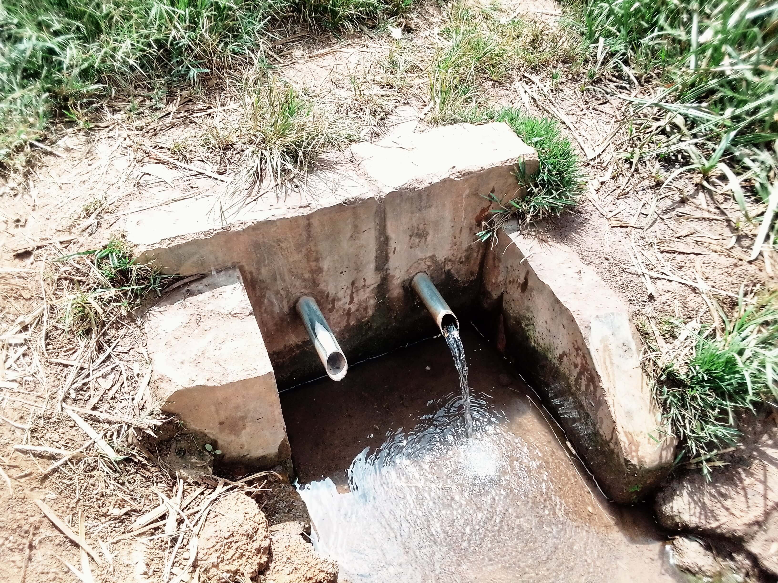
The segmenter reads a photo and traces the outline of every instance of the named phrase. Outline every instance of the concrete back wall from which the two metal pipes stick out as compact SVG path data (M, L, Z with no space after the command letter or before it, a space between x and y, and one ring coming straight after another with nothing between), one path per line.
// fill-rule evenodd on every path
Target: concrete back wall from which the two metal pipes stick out
M433 333L408 284L428 271L452 308L475 301L487 194L513 197L537 158L506 124L440 127L352 147L352 161L226 213L204 197L133 216L128 239L170 273L240 267L279 385L323 374L294 311L316 298L351 361Z

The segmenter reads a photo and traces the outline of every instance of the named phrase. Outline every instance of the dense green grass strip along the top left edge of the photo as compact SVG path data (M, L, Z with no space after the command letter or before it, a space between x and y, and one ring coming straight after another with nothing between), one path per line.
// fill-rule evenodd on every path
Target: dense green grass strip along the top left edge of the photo
M58 113L81 119L116 93L196 83L262 61L268 26L342 30L376 23L410 0L3 0L0 165Z

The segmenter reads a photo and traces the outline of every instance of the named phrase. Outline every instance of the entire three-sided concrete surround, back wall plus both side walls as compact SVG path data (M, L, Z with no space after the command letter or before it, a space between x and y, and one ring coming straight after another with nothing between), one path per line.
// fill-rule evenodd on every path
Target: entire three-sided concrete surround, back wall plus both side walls
M167 273L210 274L146 317L163 410L209 435L227 463L289 459L277 386L324 373L296 300L316 299L355 362L435 333L409 288L426 271L455 312L499 312L503 348L538 354L514 360L547 391L606 493L641 497L667 473L672 447L652 438L661 435L659 417L626 306L591 270L559 285L519 278L541 260L521 252L528 239L510 236L506 253L504 233L499 251L475 243L489 216L485 196L520 194L516 166L536 172L534 150L506 124L458 124L355 145L351 154L250 203L231 207L204 194L130 215L124 230L142 260ZM543 261L558 265L555 253ZM569 250L565 257L567 270L583 267ZM579 308L566 302L590 293L599 302L592 317L569 316ZM548 306L569 317L530 333L535 312ZM569 356L559 360L562 353Z

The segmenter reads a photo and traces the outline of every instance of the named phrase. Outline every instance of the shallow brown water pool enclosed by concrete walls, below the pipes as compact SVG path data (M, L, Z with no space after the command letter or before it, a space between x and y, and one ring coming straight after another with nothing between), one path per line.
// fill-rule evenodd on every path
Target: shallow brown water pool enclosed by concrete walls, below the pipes
M509 363L470 325L462 338L471 438L440 337L282 393L340 580L680 581L650 514L609 504Z

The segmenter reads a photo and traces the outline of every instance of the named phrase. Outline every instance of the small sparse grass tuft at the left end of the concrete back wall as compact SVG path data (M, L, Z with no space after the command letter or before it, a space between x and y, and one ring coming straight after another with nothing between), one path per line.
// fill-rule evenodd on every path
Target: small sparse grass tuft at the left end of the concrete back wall
M86 261L79 260L81 257ZM162 275L149 264L140 264L131 247L112 239L102 249L72 253L56 260L68 265L68 275L79 273L79 285L65 289L60 316L65 330L97 332L117 316L137 308L149 295L159 295L174 276Z

